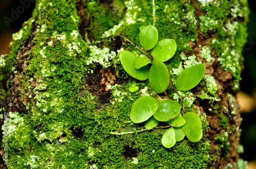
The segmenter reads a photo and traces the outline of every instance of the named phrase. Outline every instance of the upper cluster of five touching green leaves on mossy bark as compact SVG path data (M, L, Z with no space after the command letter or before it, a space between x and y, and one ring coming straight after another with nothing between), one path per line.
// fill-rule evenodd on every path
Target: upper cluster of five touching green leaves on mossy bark
M164 92L169 85L169 72L163 62L172 58L177 45L173 39L158 41L158 31L155 26L140 27L140 45L144 51L150 51L150 57L136 57L130 51L122 51L119 58L123 69L138 80L150 82L150 86L156 93ZM151 68L148 64L152 64Z

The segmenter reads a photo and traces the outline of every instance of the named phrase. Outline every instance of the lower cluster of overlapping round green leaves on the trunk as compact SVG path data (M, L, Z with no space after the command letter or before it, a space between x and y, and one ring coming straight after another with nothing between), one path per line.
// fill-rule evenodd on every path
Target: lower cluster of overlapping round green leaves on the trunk
M181 105L174 100L158 102L151 96L137 99L131 110L130 118L134 123L145 122L144 127L153 129L161 122L171 125L162 136L162 145L166 148L173 147L185 135L190 142L198 142L202 138L202 124L195 112L187 112L181 116Z

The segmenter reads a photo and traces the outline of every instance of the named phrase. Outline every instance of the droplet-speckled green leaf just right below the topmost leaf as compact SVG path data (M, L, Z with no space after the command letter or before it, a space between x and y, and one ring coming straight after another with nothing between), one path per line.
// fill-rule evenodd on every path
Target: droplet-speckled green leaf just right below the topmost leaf
M174 39L162 39L152 49L152 56L155 61L168 61L176 52L177 45Z

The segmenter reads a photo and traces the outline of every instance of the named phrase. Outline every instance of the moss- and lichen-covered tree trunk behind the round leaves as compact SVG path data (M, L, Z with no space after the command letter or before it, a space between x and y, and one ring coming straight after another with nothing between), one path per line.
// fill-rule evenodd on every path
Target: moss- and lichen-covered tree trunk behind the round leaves
M247 20L246 0L37 1L13 35L10 54L0 58L4 162L8 168L245 168L236 94ZM172 87L161 94L127 74L119 59L122 50L143 54L123 37L142 48L140 26L150 24L159 40L177 44L164 62ZM178 75L199 63L206 66L201 82L176 91ZM132 93L133 85L139 90ZM144 123L130 120L142 96L176 100L182 115L195 112L201 140L163 147L165 123L142 130Z

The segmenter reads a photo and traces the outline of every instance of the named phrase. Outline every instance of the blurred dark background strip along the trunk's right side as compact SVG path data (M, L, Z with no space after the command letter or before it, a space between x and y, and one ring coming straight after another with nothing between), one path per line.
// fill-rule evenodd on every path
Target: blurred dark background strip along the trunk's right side
M245 106L248 109L241 115L243 121L240 142L244 146L241 158L251 161L250 168L256 168L256 6L255 0L248 0L248 3L251 13L247 25L247 44L244 46L245 69L241 80L241 90L245 92L245 95L247 94L247 99L244 99L245 105L241 107Z

